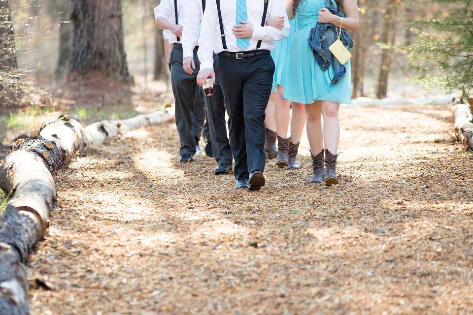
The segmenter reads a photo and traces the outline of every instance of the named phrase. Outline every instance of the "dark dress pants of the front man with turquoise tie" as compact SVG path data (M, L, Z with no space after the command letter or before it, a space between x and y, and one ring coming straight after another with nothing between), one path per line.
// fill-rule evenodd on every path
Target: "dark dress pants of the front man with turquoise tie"
M250 173L265 169L265 110L274 62L269 51L244 59L218 55L215 67L229 110L235 178L247 179Z

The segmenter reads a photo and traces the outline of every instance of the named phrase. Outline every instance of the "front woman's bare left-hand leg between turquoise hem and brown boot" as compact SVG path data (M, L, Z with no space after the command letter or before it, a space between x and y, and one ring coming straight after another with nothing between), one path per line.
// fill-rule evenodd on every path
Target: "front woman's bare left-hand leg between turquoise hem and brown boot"
M320 102L305 105L305 111L307 114L305 128L307 131L307 139L309 140L310 151L312 151L312 154L317 155L322 151L324 145L324 136L322 131L322 105Z

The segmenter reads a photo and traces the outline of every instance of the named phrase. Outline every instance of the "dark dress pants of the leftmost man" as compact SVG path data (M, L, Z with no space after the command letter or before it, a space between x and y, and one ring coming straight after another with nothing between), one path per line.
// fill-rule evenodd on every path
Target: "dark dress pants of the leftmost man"
M197 74L200 63L197 53L194 53L196 68L192 74L182 67L183 52L179 48L171 51L171 86L176 101L176 127L179 133L181 147L179 154L194 155L197 138L200 138L205 121L205 104L203 89L197 84Z

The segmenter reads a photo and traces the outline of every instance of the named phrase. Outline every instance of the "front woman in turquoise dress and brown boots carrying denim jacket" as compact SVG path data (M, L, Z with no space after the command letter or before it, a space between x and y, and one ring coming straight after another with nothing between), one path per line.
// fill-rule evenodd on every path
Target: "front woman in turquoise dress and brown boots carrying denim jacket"
M341 24L350 32L358 30L358 4L356 0L284 0L284 3L286 8L292 8L292 16L297 17L298 25L286 61L290 66L285 67L283 74L283 96L296 106L305 105L313 168L310 182L335 185L338 184L335 169L340 135L338 110L340 103L351 104L350 62L345 64L346 75L337 84L332 84L335 75L332 65L325 72L320 68L307 39L310 29L318 22L337 27ZM344 17L332 14L326 5L337 7Z

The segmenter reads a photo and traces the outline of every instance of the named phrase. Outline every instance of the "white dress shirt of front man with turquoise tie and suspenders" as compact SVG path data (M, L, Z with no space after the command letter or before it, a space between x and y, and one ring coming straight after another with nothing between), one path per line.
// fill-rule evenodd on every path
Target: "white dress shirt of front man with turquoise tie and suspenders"
M236 0L220 0L220 9L228 51L232 53L241 52L242 49L236 45L236 37L232 32L236 25ZM253 36L250 38L250 45L244 51L256 50L259 40L262 40L260 49L272 50L274 41L289 36L289 19L281 0L269 0L266 20L275 16L284 16L284 28L282 30L275 29L266 25L266 23L265 26L261 26L264 1L246 0L246 11L248 22L253 24ZM201 61L201 69L213 69L213 53L219 54L224 51L215 0L207 0L205 5L199 44L198 55Z

